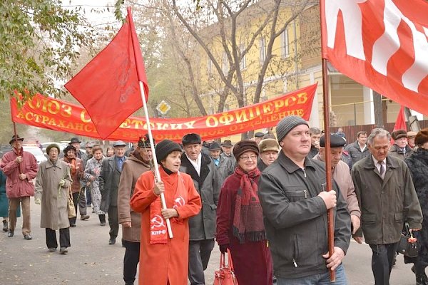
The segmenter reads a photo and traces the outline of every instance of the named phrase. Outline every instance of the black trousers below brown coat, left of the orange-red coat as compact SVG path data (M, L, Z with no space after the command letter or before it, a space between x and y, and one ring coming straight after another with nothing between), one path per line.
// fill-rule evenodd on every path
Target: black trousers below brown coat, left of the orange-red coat
M123 281L126 285L133 284L136 280L137 266L140 261L140 243L129 242L122 239L125 247L125 256L123 257Z

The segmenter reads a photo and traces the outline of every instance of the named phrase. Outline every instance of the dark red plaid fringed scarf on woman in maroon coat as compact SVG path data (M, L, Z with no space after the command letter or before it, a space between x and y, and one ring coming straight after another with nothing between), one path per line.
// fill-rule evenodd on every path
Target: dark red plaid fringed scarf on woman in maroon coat
M240 244L245 241L259 242L266 239L263 211L255 182L260 177L260 170L256 167L250 172L244 172L242 168L236 167L235 175L240 177L240 188L236 195L233 235Z

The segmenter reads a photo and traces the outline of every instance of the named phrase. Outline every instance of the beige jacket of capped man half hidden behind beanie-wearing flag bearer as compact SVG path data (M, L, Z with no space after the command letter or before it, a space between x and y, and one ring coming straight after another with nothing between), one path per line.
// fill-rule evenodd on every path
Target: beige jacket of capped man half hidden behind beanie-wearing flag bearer
M315 155L314 160L321 160L320 154ZM347 209L350 214L361 217L361 210L358 206L357 195L355 194L354 182L350 174L350 167L342 160L337 163L335 170L333 170L333 179L339 186L340 193L347 203Z

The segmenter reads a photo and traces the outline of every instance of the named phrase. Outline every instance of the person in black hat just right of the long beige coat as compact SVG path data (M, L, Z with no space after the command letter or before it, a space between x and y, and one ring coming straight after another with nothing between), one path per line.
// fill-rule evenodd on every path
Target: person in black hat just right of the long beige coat
M85 188L81 187L81 180L83 180L83 162L80 158L76 157L76 147L73 145L67 145L63 149L64 157L61 158L63 162L68 164L70 167L71 180L71 192L73 193L73 203L74 209L76 209L77 217L77 207L78 212L81 214L81 220L85 221L89 219L89 215L86 214L86 197L85 197ZM70 218L70 227L76 227L76 217Z

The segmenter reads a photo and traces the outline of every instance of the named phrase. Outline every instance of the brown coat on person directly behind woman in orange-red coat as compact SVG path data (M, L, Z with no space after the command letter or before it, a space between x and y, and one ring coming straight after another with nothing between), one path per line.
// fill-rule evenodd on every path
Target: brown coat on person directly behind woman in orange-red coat
M138 178L143 172L150 170L150 165L131 155L123 162L121 181L118 190L118 217L119 223L131 222L131 227L123 227L122 238L129 242L140 242L141 214L131 209L129 201L136 187Z

